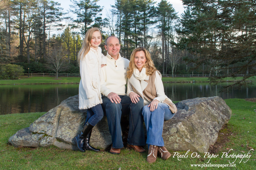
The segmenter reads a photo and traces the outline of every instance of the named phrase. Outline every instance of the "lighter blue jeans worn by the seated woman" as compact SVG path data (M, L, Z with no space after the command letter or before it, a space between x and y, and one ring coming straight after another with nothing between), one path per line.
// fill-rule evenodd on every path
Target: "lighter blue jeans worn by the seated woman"
M147 129L147 141L149 145L164 146L162 137L164 121L171 119L174 116L165 103L158 103L157 109L153 112L150 111L148 105L142 109L145 126Z

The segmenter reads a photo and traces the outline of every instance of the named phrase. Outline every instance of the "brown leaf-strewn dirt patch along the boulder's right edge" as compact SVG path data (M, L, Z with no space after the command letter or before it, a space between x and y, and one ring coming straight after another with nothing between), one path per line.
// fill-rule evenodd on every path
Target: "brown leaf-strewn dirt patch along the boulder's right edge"
M210 154L216 154L224 148L226 142L229 142L229 136L234 135L231 126L223 125L219 131L218 138L213 145L210 145Z

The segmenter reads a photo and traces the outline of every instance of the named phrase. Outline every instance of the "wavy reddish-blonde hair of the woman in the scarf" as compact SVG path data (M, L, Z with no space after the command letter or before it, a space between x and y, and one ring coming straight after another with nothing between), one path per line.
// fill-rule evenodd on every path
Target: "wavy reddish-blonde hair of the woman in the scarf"
M144 47L137 47L132 51L131 57L130 57L130 63L129 63L129 67L127 68L127 78L130 79L133 73L133 70L136 68L135 63L134 63L134 58L135 58L135 53L138 51L143 51L145 53L145 57L146 57L146 63L144 64L143 67L146 68L146 74L147 75L152 75L152 73L154 73L154 71L156 71L154 62L151 59L150 53L148 52L148 50Z

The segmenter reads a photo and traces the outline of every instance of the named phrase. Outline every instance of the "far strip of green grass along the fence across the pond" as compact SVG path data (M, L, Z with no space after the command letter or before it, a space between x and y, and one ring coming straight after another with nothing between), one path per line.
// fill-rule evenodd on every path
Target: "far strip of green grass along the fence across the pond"
M21 77L19 80L0 80L0 85L8 85L8 84L71 84L71 83L79 83L80 77L59 77L58 80L55 77ZM236 79L228 77L223 81L229 82L241 80L242 77L237 77ZM177 82L177 83L187 83L187 82L210 82L208 77L162 77L162 81L164 83L167 82ZM255 78L250 77L247 81L256 81Z

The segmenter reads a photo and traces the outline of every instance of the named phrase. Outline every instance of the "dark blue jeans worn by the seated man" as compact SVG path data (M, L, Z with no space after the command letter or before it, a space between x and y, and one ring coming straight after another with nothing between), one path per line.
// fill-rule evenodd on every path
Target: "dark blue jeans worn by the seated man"
M112 147L123 148L121 115L129 114L129 132L127 143L130 145L144 146L145 137L143 129L143 117L141 114L143 108L143 99L138 103L132 103L130 97L119 95L120 103L112 103L109 98L102 96L102 108L106 111L108 119L109 132L112 138Z

